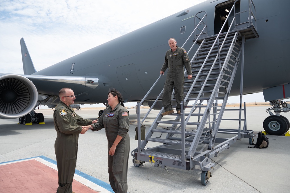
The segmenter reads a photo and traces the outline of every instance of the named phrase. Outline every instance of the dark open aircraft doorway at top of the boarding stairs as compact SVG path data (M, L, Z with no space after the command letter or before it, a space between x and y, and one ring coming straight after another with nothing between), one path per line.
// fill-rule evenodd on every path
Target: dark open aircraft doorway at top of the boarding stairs
M224 27L222 33L227 32L229 30L229 26L230 26L231 22L233 21L234 14L233 14L233 11L231 12L230 15L228 15L228 14L234 5L234 2L235 2L235 0L226 1L226 2L220 3L217 6L215 6L215 19L214 19L215 34L218 34L220 32L220 29L224 25L224 22L225 22L227 17L229 17L229 19L228 19L227 23L225 24L225 27ZM235 3L235 12L236 13L240 12L240 1L237 1ZM236 18L236 20L240 20L240 19ZM238 23L239 23L239 21L238 21Z

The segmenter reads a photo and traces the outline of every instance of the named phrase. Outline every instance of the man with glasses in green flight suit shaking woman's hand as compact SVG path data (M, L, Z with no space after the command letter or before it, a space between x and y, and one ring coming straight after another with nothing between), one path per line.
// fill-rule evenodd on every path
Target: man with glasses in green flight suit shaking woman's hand
M75 103L75 94L70 88L59 90L60 102L53 112L53 122L57 131L55 155L58 170L57 193L71 193L75 166L77 163L77 145L79 134L87 131L83 126L97 120L83 119L77 115L71 104Z

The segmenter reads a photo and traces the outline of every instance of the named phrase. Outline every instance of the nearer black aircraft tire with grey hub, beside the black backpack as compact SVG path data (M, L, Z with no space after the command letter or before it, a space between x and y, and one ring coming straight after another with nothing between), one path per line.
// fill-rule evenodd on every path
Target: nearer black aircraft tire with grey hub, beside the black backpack
M263 122L264 130L270 135L282 135L287 130L287 122L280 116L268 116Z

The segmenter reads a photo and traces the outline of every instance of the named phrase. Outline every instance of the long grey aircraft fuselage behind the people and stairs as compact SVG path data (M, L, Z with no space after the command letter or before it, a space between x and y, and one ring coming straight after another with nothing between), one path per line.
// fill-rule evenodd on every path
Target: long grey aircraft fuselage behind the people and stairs
M75 104L106 103L110 87L119 90L125 101L140 101L160 75L165 52L170 49L168 39L173 37L182 46L194 26L194 15L207 13L208 35L215 34L215 7L225 2L205 1L184 11L173 14L148 26L125 34L74 57L61 61L32 75L41 76L90 76L99 79L96 88L66 83L33 81L38 93L58 95L63 87L70 87L76 96ZM262 92L265 88L289 83L290 65L288 54L289 19L288 0L254 0L256 8L256 30L259 38L249 39L244 51L243 93ZM241 9L247 6L241 0ZM180 16L178 16L180 15ZM180 29L185 26L185 32ZM186 50L189 48L185 47ZM191 51L194 54L197 47ZM190 55L190 54L189 54ZM237 72L231 95L240 94L240 71ZM156 99L163 88L165 76L148 96ZM290 97L290 96L288 96ZM238 101L237 101L238 102Z

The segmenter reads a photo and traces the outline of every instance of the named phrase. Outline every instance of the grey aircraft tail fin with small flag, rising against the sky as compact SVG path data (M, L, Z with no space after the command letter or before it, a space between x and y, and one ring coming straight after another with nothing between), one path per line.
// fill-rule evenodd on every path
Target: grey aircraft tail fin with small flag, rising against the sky
M33 74L37 72L34 68L33 62L31 60L30 54L26 47L25 41L23 38L20 40L21 54L22 54L22 63L23 63L23 72L24 74Z

